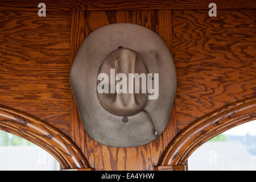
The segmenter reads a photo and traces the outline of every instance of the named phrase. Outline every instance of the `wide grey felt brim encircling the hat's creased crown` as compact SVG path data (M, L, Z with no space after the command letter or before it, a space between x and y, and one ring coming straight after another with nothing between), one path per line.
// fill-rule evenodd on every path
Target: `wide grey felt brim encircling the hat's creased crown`
M137 51L148 72L159 73L158 99L148 100L144 107L146 112L128 117L126 123L122 122L122 117L106 111L97 97L100 66L119 46ZM77 52L70 81L85 131L99 143L112 147L142 146L156 139L154 127L160 135L168 125L176 91L174 61L163 40L148 28L115 23L93 31Z

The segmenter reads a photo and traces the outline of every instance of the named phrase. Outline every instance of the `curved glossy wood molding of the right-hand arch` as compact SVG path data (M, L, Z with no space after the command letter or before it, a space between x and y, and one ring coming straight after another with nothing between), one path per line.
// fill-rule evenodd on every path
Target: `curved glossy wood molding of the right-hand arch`
M256 97L221 107L181 130L168 144L158 165L185 165L192 152L209 139L254 119L256 119Z

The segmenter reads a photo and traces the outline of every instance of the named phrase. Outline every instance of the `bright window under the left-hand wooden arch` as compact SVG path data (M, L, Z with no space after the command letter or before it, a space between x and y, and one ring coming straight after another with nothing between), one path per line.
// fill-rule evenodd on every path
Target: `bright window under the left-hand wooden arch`
M39 146L0 130L0 171L60 170L60 164Z

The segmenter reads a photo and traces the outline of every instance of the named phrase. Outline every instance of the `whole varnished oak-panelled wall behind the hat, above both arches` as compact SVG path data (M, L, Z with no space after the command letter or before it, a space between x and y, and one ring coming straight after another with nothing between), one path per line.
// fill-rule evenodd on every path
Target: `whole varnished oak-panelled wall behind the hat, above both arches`
M112 7L109 2L61 6L60 1L46 1L47 16L40 18L38 2L0 1L0 104L70 133L97 170L152 170L177 131L210 111L256 95L255 10L220 10L255 8L255 1L216 1L217 17L212 18L207 1L158 1L154 6L153 1L115 1ZM126 11L69 11L106 9ZM167 130L137 148L106 147L90 139L69 86L71 64L85 36L121 22L159 34L174 53L177 71L176 111L173 107Z

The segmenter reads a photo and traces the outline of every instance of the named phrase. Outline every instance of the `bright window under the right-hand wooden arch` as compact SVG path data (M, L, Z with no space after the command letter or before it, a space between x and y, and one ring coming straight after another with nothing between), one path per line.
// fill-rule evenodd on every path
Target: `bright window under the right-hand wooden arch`
M189 170L256 170L256 121L217 135L188 159Z

